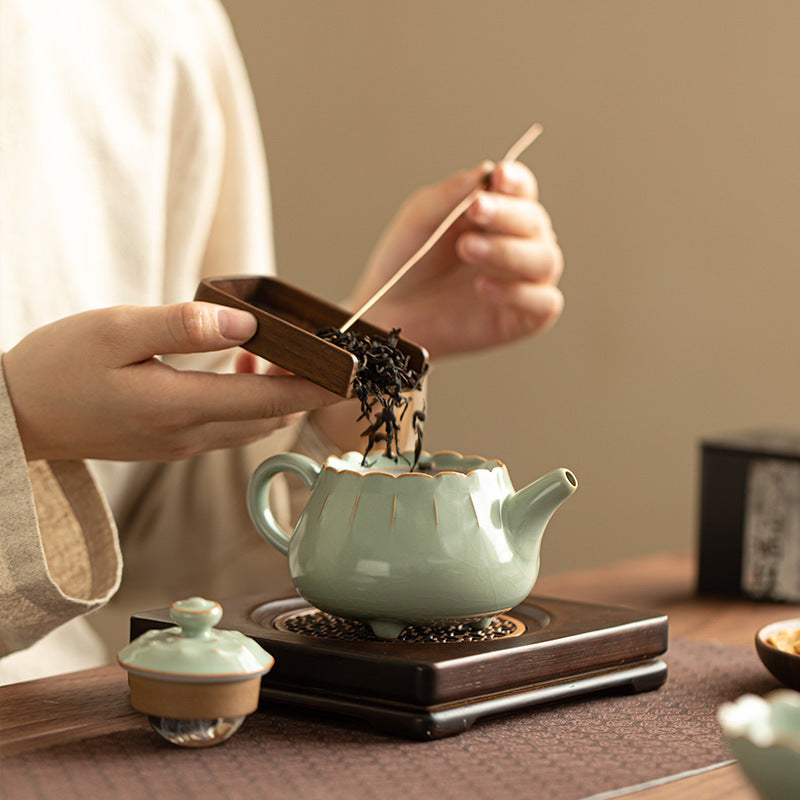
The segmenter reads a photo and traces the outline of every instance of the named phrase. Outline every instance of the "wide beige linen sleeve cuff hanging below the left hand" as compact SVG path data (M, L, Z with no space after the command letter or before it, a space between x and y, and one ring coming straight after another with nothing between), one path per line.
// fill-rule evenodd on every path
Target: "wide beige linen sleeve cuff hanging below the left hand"
M0 362L0 656L105 603L122 569L86 465L27 462Z

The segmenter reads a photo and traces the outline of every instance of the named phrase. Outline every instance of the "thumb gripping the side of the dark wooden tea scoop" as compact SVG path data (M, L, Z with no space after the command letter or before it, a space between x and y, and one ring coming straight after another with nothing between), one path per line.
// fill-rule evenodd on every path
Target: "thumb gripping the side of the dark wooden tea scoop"
M156 355L224 350L246 342L256 332L252 314L237 308L190 301L166 306L116 306L104 314L96 335L114 359L123 364Z

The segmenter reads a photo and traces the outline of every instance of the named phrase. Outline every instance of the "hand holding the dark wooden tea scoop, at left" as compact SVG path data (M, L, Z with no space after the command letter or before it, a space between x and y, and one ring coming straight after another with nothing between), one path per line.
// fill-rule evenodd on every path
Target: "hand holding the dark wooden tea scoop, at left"
M255 328L245 311L189 302L87 311L35 330L2 360L26 457L172 461L341 400L292 375L179 371L156 358L234 347Z

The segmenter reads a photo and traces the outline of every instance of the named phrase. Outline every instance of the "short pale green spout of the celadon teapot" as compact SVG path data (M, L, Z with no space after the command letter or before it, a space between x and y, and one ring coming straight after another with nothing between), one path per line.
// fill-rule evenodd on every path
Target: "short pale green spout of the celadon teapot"
M514 552L538 570L544 529L555 510L578 488L568 469L554 469L503 503L503 524Z

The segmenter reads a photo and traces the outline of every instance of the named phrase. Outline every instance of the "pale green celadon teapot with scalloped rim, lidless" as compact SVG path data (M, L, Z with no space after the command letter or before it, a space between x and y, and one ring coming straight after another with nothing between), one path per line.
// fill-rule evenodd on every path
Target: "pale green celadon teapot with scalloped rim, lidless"
M360 453L320 466L283 453L253 473L247 494L261 535L288 556L297 591L311 605L369 624L395 639L406 625L486 627L520 603L539 572L545 526L578 483L556 469L515 492L506 467L454 452ZM300 477L311 496L291 534L270 508L279 473Z

